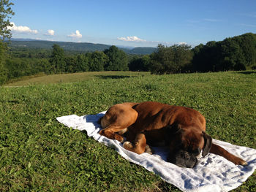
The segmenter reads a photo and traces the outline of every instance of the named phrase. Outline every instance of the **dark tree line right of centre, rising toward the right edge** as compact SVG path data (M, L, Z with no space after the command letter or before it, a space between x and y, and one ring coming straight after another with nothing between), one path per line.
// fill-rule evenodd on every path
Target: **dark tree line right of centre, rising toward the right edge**
M130 66L130 70L152 74L256 69L256 34L247 33L193 48L189 45L158 45L149 58L137 58Z

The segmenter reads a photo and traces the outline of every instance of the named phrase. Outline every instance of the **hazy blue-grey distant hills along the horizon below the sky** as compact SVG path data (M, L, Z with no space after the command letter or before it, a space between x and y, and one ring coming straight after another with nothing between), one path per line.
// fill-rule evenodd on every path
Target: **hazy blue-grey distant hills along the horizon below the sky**
M51 41L42 41L34 39L11 39L10 47L28 47L28 48L41 48L41 49L51 49L54 44L59 45L64 50L69 51L80 51L80 52L94 52L94 51L103 51L108 49L111 45L104 44L94 44L89 42L51 42ZM118 46L121 47L121 46ZM146 55L153 53L157 48L154 47L121 47L121 50L124 50L128 54L140 54Z

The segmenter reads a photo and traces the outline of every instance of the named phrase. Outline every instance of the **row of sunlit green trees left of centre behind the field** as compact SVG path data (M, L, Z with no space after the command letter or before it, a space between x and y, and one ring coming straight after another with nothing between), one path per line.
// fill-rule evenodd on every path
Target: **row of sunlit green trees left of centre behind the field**
M53 45L49 63L51 66L49 72L53 74L129 70L127 54L116 46L93 53L65 55L59 45Z

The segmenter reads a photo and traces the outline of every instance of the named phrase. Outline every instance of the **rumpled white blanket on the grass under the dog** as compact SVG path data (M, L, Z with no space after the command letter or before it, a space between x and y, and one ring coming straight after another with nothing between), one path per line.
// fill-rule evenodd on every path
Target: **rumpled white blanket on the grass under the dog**
M122 144L117 140L108 139L99 135L100 126L97 120L102 117L105 112L97 115L85 115L78 117L77 115L68 115L57 118L60 123L65 126L86 130L89 137L101 142L108 147L113 147L120 155L132 163L139 164L150 172L159 174L162 180L167 183L176 185L182 191L230 191L237 188L246 179L253 174L256 167L256 150L249 147L240 147L231 145L227 142L221 142L213 139L213 142L221 145L226 150L235 155L244 158L248 162L248 166L236 166L219 155L208 154L205 158L201 158L195 168L181 168L174 164L168 163L167 150L161 147L155 147L155 154L149 155L136 153L125 150Z

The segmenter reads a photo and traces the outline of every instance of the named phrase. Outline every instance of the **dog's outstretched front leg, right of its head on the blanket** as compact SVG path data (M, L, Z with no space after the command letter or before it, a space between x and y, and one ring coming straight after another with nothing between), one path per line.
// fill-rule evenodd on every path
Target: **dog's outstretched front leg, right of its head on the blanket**
M222 157L226 158L228 161L231 161L231 162L233 162L233 164L236 164L236 165L242 165L242 166L247 165L246 161L227 152L227 150L223 149L222 147L220 147L219 145L216 145L214 143L211 145L210 153L214 153L216 155L221 155Z

